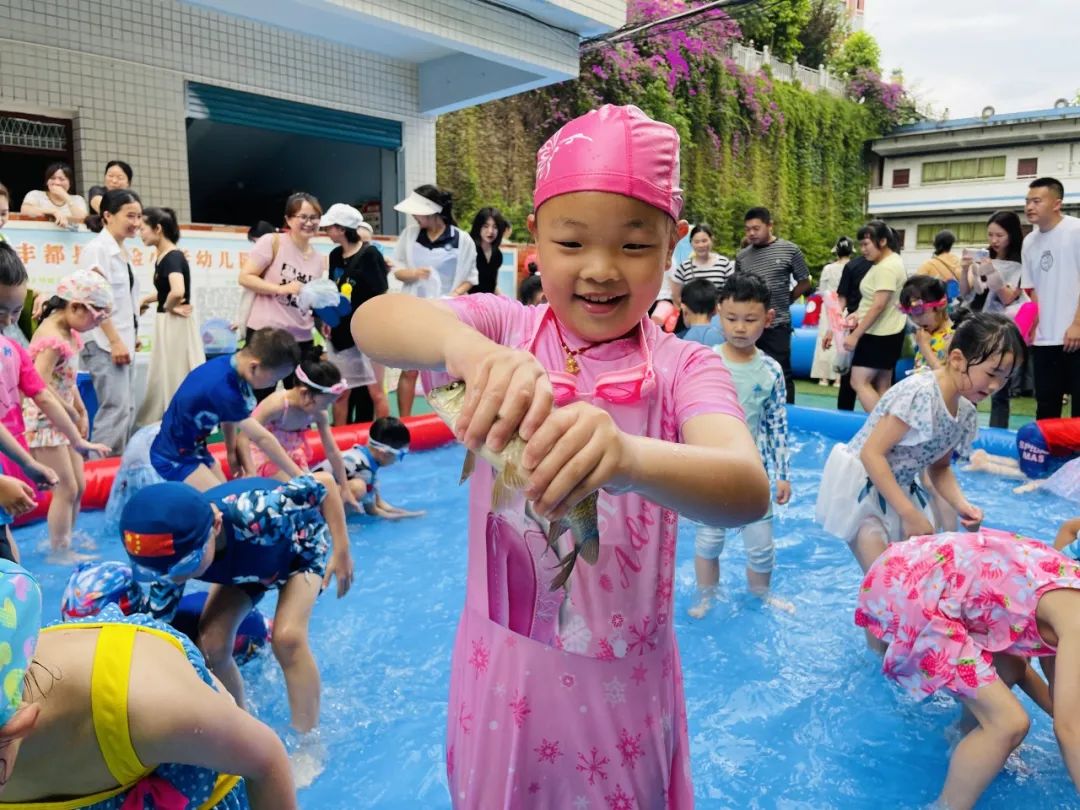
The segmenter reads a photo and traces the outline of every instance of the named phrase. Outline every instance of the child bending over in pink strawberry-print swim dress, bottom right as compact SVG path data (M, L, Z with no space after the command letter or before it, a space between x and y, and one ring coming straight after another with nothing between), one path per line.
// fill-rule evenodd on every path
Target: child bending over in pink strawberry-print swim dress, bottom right
M1023 741L1029 719L1009 687L1035 657L1080 787L1080 564L1071 556L993 529L913 538L866 572L855 624L888 644L887 677L916 698L950 692L974 715L937 806L974 806Z

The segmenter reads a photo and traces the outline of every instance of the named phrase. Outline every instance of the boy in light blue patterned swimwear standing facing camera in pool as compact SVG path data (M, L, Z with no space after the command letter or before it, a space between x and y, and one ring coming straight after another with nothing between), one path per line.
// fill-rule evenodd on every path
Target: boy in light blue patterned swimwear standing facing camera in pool
M694 282L697 283L697 282ZM711 283L711 282L707 282ZM686 291L692 284L683 288ZM757 447L777 482L777 503L792 498L787 467L787 391L780 364L757 348L757 341L772 323L769 287L759 276L735 271L719 293L724 345L714 348L731 374L739 393L739 404L746 416L746 427L757 440ZM755 523L738 529L746 548L746 582L767 605L794 612L795 607L769 594L775 545L772 540L772 510ZM690 616L701 619L712 608L720 582L720 553L727 529L699 526L694 539L693 569L698 577L698 604Z

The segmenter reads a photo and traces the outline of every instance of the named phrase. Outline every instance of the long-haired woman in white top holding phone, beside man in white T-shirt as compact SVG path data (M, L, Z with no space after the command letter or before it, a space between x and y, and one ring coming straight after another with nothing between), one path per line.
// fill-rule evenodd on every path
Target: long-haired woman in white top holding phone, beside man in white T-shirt
M1023 266L1020 251L1024 244L1020 217L1011 211L999 211L986 224L986 241L990 252L988 259L975 262L964 251L960 259L960 295L977 300L985 294L983 312L996 312L1015 319L1020 308L1031 300L1021 288ZM1026 366L1027 364L1025 364ZM1017 377L1022 377L1021 372ZM1002 386L990 397L990 427L1009 427L1009 397L1012 384Z

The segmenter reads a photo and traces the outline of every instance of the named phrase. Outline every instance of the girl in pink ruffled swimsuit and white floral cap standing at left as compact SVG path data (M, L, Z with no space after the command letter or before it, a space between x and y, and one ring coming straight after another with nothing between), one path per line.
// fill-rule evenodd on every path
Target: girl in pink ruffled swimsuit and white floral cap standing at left
M45 303L41 325L33 333L29 353L33 367L45 380L82 436L90 432L86 406L76 384L80 333L95 328L112 310L112 291L99 274L79 270L60 280L56 294ZM71 535L82 492L83 459L33 400L23 400L26 441L35 459L56 471L59 483L49 504L49 562L78 563L92 555L71 548Z

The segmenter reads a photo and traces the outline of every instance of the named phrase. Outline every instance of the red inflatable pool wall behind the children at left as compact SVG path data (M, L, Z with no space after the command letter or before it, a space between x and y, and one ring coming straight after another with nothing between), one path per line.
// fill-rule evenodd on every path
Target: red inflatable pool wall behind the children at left
M402 421L408 427L410 434L410 450L433 450L454 441L454 433L446 427L446 423L434 414L426 416L413 416ZM352 447L354 444L367 442L367 430L370 422L362 424L343 424L340 428L333 428L334 440L342 450ZM311 450L312 463L322 461L326 454L323 451L323 443L319 438L319 432L311 430L307 434L308 448ZM225 458L225 443L218 442L210 446L214 455L225 468L226 474L229 472ZM85 467L86 489L82 496L82 508L105 509L109 500L109 491L112 489L112 480L120 470L119 458L106 458L98 461L87 461ZM44 519L49 513L49 502L52 499L50 492L41 492L38 497L38 505L25 515L15 518L16 526Z

